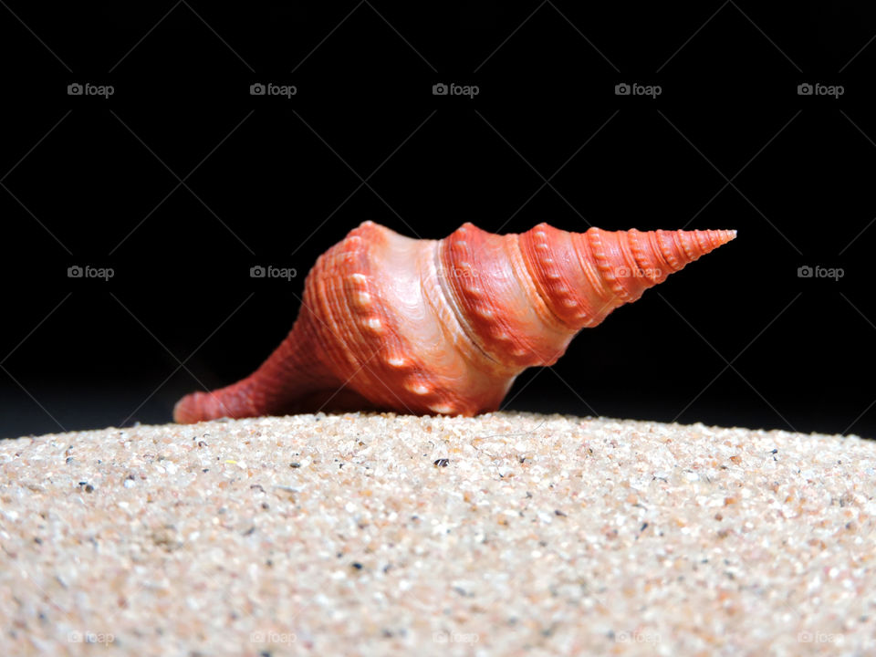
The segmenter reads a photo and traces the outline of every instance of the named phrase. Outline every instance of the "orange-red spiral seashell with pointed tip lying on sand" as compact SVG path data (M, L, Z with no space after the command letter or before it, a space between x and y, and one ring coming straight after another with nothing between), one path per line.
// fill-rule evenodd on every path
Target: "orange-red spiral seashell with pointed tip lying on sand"
M183 397L173 418L495 411L521 371L552 365L581 328L735 235L463 224L416 240L365 222L319 256L295 325L261 367Z

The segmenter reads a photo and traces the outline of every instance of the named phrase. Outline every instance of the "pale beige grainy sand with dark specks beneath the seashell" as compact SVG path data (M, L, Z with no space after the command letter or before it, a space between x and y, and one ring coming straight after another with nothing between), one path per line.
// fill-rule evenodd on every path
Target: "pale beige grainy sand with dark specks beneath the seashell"
M857 437L319 414L0 468L0 654L876 653Z

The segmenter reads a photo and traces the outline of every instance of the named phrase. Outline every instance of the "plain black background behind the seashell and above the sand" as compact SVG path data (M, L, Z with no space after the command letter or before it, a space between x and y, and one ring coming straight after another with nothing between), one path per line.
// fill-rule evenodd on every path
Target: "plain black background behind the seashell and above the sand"
M116 5L0 7L0 436L170 421L255 369L316 256L366 219L736 228L507 405L876 435L871 6Z

